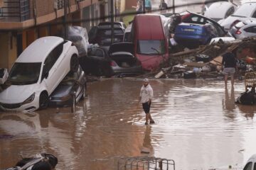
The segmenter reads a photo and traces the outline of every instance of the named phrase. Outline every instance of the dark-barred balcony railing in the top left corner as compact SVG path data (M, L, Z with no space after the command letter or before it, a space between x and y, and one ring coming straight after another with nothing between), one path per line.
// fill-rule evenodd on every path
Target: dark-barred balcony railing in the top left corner
M26 21L30 19L29 0L6 0L0 8L0 18L10 21Z

